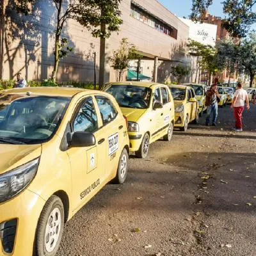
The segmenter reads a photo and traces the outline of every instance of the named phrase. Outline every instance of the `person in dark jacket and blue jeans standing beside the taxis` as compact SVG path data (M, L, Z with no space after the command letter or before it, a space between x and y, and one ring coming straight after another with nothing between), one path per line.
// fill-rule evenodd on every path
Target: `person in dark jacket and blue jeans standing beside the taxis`
M217 84L212 84L211 88L206 92L205 106L207 106L207 116L205 119L205 125L210 125L210 118L212 115L212 125L217 126L218 117L218 100L220 99L220 94L218 93Z

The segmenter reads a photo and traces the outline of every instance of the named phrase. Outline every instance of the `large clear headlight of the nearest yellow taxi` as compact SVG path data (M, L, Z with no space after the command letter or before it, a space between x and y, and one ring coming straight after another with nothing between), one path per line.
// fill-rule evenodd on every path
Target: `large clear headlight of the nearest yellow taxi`
M0 175L0 203L19 194L35 177L39 157Z

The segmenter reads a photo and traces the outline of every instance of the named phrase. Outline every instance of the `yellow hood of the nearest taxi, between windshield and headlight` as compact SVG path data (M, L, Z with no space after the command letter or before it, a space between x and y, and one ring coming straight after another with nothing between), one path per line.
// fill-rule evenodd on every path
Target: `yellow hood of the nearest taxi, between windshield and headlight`
M13 145L0 144L0 174L8 172L22 164L39 157L42 146L39 145Z

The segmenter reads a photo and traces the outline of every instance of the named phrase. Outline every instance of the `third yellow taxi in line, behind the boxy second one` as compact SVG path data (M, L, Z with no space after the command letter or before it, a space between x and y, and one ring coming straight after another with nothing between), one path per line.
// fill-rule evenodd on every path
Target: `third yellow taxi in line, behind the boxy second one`
M192 87L185 85L170 85L169 87L175 106L174 127L186 132L188 124L191 122L197 124L199 119L199 104L195 91Z

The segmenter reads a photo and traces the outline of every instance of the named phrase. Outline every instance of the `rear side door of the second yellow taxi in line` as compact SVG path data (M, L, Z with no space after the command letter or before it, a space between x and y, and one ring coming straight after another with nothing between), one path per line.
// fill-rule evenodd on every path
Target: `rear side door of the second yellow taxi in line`
M163 132L167 131L170 122L171 122L171 110L172 110L172 102L170 99L170 95L168 92L168 88L165 86L161 87L161 96L162 96L162 102L163 102L163 115L161 114L161 123L162 123L162 129Z

